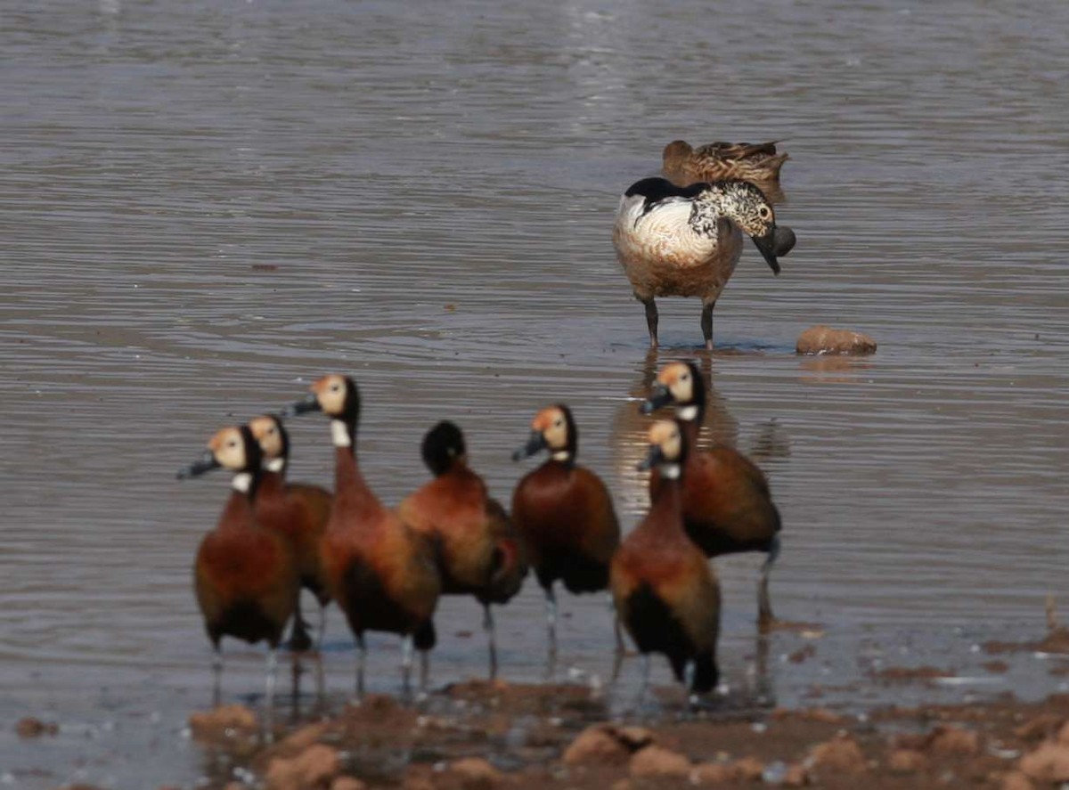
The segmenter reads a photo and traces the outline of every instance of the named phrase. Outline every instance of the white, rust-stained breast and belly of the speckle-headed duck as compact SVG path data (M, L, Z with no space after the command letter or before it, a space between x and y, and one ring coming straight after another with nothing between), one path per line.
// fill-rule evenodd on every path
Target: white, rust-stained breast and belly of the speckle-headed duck
M687 222L691 203L662 205L642 215L640 196L623 198L613 243L639 298L700 296L715 299L742 253L742 233L731 222L712 236L695 233Z

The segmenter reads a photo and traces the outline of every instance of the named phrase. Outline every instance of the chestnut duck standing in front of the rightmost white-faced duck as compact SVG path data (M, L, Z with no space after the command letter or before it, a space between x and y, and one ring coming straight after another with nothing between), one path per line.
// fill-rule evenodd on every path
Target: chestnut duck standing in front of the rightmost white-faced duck
M650 655L662 653L691 692L716 687L721 589L706 556L683 530L684 480L691 449L675 420L649 432L649 453L639 468L656 468L661 484L650 511L613 558L610 586L620 622L644 656L642 688Z

